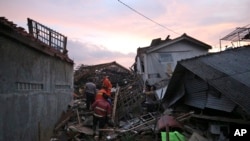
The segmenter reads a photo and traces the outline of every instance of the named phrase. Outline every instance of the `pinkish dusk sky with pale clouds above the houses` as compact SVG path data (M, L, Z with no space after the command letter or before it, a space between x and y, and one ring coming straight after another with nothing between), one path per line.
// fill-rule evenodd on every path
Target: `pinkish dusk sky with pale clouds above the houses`
M75 67L116 61L128 68L138 47L183 33L219 50L220 38L250 24L249 13L249 0L0 1L0 16L18 26L27 30L31 18L67 36Z

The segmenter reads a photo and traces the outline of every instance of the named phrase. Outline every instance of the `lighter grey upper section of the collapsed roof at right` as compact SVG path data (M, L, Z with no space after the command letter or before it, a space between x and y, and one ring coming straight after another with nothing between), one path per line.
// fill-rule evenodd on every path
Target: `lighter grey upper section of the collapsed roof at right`
M250 71L249 55L250 48L246 46L197 59L190 59L181 62L181 64L186 68L190 68L196 74L200 73L203 79L209 78L210 80L215 80L231 77L250 87L250 82L246 81L246 79L250 79L250 75L247 75ZM193 66L191 67L191 65ZM201 70L209 73L205 75Z

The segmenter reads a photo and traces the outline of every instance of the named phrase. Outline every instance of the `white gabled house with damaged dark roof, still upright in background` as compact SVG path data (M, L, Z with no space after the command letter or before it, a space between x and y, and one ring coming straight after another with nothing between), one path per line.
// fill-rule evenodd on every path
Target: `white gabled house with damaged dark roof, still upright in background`
M137 49L134 69L141 75L144 84L155 85L158 97L165 94L177 61L207 54L212 47L183 34L178 38L154 39L149 47Z

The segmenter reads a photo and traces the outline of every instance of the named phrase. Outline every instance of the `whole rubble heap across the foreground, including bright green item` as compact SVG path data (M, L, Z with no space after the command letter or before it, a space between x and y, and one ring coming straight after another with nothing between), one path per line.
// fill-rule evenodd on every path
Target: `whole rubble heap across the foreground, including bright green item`
M163 108L165 101L158 99L149 111L141 78L136 75L127 78L128 83L117 85L112 93L113 125L93 131L93 111L87 110L85 97L79 97L62 114L51 141L95 141L99 132L100 140L112 141L227 141L231 125L250 125L248 121L229 118L230 113L227 117L225 113L200 110L182 101L170 109Z

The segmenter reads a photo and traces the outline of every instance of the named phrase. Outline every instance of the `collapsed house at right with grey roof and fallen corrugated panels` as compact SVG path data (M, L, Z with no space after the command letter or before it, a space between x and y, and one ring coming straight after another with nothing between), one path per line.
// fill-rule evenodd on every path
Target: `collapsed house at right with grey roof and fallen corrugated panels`
M249 56L248 45L179 61L163 106L195 111L186 128L213 140L228 138L230 127L249 126Z

